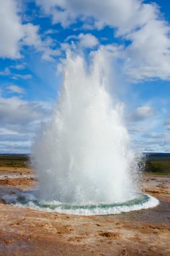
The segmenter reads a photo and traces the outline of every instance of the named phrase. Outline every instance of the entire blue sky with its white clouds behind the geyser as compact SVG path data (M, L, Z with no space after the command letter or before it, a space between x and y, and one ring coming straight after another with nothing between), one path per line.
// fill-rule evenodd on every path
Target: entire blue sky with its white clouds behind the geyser
M62 84L66 51L103 47L136 149L170 152L167 0L1 0L0 153L28 153Z

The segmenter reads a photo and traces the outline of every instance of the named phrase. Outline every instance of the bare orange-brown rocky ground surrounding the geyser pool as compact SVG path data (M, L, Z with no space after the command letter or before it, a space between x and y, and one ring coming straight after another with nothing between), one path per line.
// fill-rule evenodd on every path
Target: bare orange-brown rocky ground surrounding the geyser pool
M108 216L38 212L3 195L36 186L29 168L0 168L0 255L170 255L170 176L144 174L155 208Z

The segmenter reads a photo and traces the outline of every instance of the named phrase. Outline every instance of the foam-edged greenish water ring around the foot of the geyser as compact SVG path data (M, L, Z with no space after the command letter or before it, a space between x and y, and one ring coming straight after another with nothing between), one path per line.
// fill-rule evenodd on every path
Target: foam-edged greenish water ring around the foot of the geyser
M58 201L38 200L34 192L17 193L15 195L5 195L3 199L12 205L29 207L44 212L57 212L60 214L77 214L83 216L121 214L155 207L159 201L151 195L136 193L133 199L122 203L110 203L97 205L72 205L60 203Z

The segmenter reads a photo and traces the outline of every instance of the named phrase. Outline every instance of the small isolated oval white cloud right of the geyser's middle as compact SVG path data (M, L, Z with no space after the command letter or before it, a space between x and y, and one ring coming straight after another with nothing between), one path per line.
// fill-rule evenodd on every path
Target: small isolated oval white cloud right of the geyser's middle
M156 114L157 111L155 108L152 108L151 106L140 106L136 108L135 112L130 116L130 121L143 121Z

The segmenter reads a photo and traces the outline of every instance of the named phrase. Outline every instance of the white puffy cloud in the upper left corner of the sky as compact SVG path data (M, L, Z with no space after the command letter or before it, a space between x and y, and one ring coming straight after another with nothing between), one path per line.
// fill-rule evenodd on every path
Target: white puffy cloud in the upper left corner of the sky
M32 46L42 53L49 48L46 40L42 41L39 26L22 22L17 3L15 0L0 1L0 34L3 35L0 38L0 57L2 58L22 58L20 50L24 45Z

